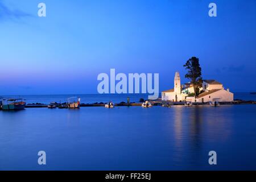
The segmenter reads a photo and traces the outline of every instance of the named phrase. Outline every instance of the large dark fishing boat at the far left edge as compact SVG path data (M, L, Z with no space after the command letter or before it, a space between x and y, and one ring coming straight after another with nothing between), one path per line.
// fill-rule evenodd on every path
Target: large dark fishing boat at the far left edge
M22 110L26 106L26 101L22 98L3 98L2 109L3 110Z

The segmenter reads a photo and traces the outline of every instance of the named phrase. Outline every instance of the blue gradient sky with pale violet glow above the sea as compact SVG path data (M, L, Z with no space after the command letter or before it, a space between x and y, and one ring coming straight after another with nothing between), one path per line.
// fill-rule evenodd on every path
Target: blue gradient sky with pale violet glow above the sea
M0 94L97 93L97 75L110 68L159 73L165 90L175 71L188 81L183 64L191 56L204 79L256 92L255 46L254 0L0 0Z

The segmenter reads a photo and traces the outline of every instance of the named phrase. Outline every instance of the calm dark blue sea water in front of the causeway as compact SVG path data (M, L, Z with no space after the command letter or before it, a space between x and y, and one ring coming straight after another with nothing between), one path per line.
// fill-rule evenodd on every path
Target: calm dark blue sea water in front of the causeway
M256 170L255 131L256 105L0 111L0 169Z

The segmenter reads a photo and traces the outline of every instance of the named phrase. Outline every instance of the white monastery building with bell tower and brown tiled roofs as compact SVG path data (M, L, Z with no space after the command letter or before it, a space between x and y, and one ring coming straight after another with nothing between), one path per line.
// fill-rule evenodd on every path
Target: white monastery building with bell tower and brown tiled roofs
M174 89L165 90L162 92L163 101L192 101L192 102L231 102L234 100L234 94L229 92L229 89L224 89L224 86L216 80L203 80L202 87L199 89L200 94L196 97L188 97L188 94L194 93L193 85L186 83L181 86L180 74L175 73Z

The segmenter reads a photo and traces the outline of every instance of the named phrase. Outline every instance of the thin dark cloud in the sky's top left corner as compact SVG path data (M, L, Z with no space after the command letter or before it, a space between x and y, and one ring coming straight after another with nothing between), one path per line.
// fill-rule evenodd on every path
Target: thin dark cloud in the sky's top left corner
M9 7L3 3L3 1L0 0L0 20L18 20L25 17L31 17L31 14L28 14L22 10L14 9L11 10Z

